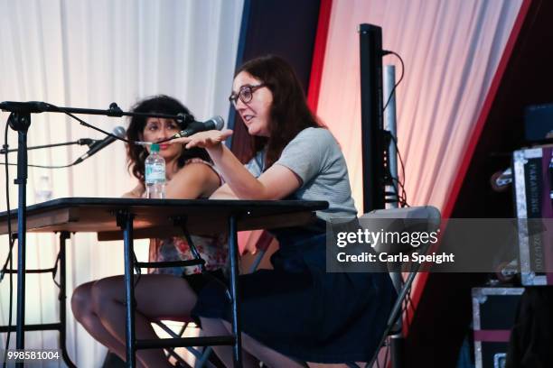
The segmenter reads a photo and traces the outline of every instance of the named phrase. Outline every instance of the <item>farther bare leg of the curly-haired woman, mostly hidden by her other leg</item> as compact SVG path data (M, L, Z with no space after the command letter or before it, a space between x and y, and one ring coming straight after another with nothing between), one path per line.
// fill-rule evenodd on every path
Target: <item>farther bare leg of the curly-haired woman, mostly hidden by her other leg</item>
M87 282L73 291L71 297L71 310L73 311L73 316L75 316L75 319L77 319L100 344L107 346L111 352L125 359L125 345L112 336L106 327L102 325L96 310L93 308L93 284L94 281Z

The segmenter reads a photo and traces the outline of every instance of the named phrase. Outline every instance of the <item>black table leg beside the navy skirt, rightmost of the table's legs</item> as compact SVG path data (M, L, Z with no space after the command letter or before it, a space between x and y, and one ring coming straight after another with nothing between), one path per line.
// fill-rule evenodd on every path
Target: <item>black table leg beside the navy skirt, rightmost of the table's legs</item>
M234 366L242 366L242 336L239 319L239 270L238 270L238 227L235 215L229 218L230 294L232 296L232 334L236 337L233 345Z

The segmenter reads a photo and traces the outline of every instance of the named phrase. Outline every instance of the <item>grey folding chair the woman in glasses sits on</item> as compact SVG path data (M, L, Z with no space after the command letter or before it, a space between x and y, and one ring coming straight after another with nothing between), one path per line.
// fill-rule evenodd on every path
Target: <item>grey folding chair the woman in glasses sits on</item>
M424 207L406 207L406 208L390 208L390 209L380 209L375 210L370 213L367 213L363 216L361 216L361 219L404 219L407 221L408 224L411 226L408 226L405 228L405 231L426 231L426 232L434 232L437 231L440 222L441 222L441 215L440 211L436 207L432 206L424 206ZM420 221L419 221L420 220ZM415 226L412 226L415 225ZM410 244L405 244L401 246L400 244L375 244L375 251L377 253L386 252L389 254L398 254L398 253L410 253L414 249L417 250L417 253L420 254L426 254L428 251L429 242L426 242L424 244L420 244L417 248L413 248ZM393 274L393 272L399 272L398 278L392 277L392 280L403 280L401 276L401 271L403 269L403 266L406 264L398 264L398 263L389 263L389 271L390 275ZM415 277L417 276L417 271L419 271L420 265L419 264L412 264L410 267L410 270L408 271L408 278L407 280L401 284L394 284L394 288L398 292L398 299L394 302L389 318L388 323L386 325L386 328L384 329L384 332L382 334L382 337L380 338L380 344L377 346L377 349L375 353L373 354L372 359L370 360L370 363L367 363L365 366L372 367L373 364L376 362L380 348L384 345L387 338L391 336L392 338L395 336L400 336L401 334L401 306L403 305L403 302L408 297L408 293L411 289L411 286L413 284L413 281L415 280ZM401 357L394 356L393 351L391 354L392 359L392 366L396 366L394 363L394 360L401 359Z

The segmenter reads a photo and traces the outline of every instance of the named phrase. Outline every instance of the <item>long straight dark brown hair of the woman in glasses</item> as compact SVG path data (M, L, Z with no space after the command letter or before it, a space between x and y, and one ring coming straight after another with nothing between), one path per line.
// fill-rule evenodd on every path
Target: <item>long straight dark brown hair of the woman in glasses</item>
M253 154L267 145L266 170L275 163L286 144L297 133L308 127L323 127L309 110L304 89L288 62L275 55L267 55L247 61L236 72L242 71L265 83L273 94L268 137L253 137ZM249 158L251 159L251 157Z

